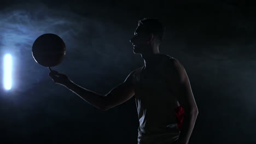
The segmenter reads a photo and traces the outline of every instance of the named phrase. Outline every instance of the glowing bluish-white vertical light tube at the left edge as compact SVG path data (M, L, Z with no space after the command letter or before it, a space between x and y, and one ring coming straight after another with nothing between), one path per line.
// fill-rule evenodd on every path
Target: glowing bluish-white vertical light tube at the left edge
M10 54L6 54L4 56L4 75L3 75L3 82L4 88L7 90L11 89L11 71L13 67L13 62Z

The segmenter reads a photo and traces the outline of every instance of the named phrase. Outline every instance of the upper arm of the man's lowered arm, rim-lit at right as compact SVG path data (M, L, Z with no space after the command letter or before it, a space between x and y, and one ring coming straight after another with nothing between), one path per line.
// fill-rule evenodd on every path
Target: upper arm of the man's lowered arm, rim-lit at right
M166 68L167 82L174 97L176 97L185 111L197 112L189 78L183 65L177 59L171 58Z

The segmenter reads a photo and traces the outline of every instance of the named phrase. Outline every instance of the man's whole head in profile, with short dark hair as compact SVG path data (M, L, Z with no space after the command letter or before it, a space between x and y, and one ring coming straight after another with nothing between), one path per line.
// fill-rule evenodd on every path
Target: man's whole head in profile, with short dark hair
M164 31L165 27L157 19L139 20L134 36L130 40L133 53L142 55L158 53Z

